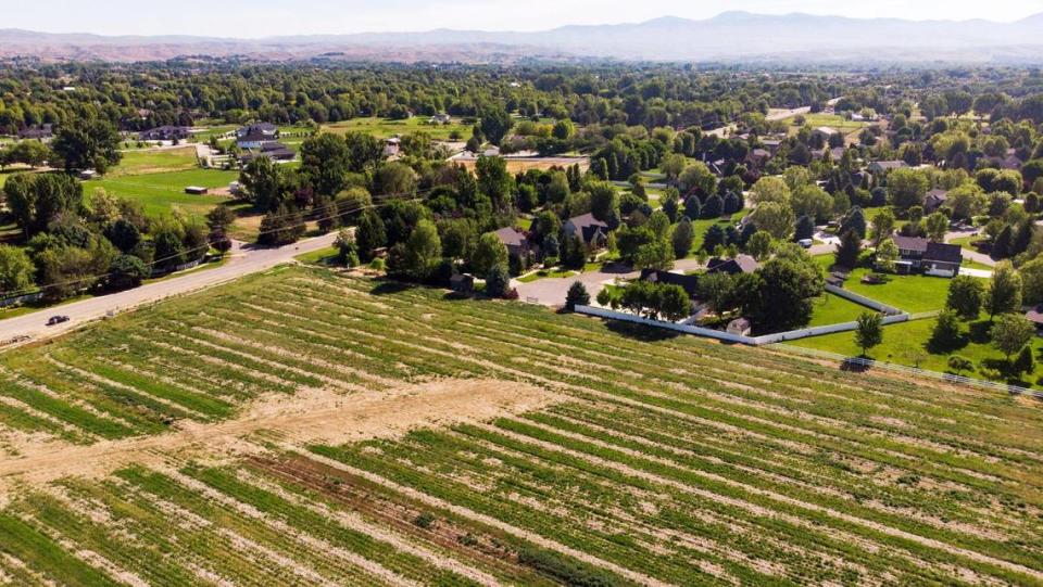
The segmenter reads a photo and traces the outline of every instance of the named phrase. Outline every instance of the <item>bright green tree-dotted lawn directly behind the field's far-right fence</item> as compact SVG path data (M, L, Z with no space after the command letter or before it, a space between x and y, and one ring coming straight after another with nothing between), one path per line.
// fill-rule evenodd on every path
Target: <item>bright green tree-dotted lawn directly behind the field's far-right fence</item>
M984 332L988 331L988 319L979 320L975 323L964 322L963 330L965 333L968 333L965 337L966 344L960 348L948 352L931 353L927 342L931 337L933 328L933 319L914 320L912 322L900 322L897 324L883 327L883 343L869 350L868 355L870 358L877 360L940 372L950 371L948 357L959 355L970 359L975 363L975 372L964 372L962 374L977 379L989 379L981 372L983 359L1003 359L1003 354L996 350L984 335ZM972 329L978 333L977 335L972 336L969 334ZM862 354L862 350L855 344L855 335L853 332L838 332L835 334L802 339L787 344L828 350L845 356ZM1032 353L1036 357L1036 368L1029 377L1025 378L1027 381L1020 383L1023 385L1031 384L1040 388L1041 385L1038 384L1036 380L1043 377L1043 361L1041 361L1041 359L1043 359L1043 337L1033 336L1032 342L1029 344L1032 346Z

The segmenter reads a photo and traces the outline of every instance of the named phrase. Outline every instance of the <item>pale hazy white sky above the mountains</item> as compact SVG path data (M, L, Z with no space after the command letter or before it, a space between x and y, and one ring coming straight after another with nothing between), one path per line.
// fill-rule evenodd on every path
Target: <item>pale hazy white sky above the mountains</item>
M706 18L728 10L1006 22L1043 12L1043 0L0 0L3 4L11 5L0 18L2 28L250 38L431 28L541 30L665 15Z

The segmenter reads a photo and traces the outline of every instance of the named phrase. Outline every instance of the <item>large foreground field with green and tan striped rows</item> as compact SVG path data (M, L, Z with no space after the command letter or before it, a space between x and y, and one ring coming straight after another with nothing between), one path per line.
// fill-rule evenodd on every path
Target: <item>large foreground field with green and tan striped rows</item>
M16 584L1043 582L1026 398L302 267L0 373Z

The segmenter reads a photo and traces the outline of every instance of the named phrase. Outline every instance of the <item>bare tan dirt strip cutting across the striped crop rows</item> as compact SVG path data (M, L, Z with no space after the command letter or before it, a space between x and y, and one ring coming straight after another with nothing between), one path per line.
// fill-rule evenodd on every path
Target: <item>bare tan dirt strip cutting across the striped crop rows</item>
M104 475L131 462L161 463L173 456L221 458L254 452L256 445L242 438L259 432L278 434L293 444L340 444L395 437L423 426L491 420L542 408L555 397L537 386L495 380L439 380L350 395L328 390L271 395L227 422L183 421L167 434L90 446L52 442L20 447L20 458L0 460L0 490L20 482Z

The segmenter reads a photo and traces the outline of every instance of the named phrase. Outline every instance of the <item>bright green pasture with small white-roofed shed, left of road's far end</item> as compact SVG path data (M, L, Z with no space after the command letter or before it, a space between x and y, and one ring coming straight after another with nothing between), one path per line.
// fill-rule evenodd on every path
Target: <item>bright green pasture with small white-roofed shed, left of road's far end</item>
M190 195L185 193L188 186L201 186L211 189L227 188L230 181L239 178L237 171L217 169L191 169L140 176L103 177L84 183L84 192L89 199L95 188L120 197L136 200L144 205L146 214L159 216L180 210L190 216L202 216L217 204L228 202L227 195Z

